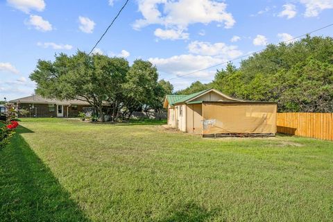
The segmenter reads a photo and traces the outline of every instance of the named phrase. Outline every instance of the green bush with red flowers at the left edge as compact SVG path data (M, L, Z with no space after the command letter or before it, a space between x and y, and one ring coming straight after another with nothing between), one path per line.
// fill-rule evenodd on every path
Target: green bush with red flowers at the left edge
M6 110L6 121L0 123L0 150L10 143L10 138L14 134L15 128L19 126L19 123L15 121L15 105L6 105Z

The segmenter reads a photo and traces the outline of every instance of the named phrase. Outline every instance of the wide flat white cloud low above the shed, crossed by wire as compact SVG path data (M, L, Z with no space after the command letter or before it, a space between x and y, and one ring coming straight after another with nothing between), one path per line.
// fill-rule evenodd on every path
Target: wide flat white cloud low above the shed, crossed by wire
M191 54L172 56L170 58L149 58L148 60L149 62L153 63L153 65L156 65L159 71L165 74L176 76L182 76L184 74L190 73L191 71L203 69L226 61L222 58L200 55L195 56ZM214 76L215 72L216 70L198 71L195 74L191 74L186 77L210 78Z

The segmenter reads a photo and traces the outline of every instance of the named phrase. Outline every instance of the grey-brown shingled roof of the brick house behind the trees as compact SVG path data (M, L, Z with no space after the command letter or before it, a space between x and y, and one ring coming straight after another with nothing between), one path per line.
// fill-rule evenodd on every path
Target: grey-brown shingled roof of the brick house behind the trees
M19 99L9 101L10 103L46 103L46 104L59 104L59 105L89 105L86 101L73 100L58 100L58 99L46 99L38 94L32 96L26 96Z

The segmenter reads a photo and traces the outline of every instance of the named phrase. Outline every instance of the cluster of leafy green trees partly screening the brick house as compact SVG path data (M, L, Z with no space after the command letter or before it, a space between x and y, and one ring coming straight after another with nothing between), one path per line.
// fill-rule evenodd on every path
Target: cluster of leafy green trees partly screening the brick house
M130 67L124 58L88 56L81 51L74 56L56 55L54 62L39 60L30 78L37 83L36 92L42 96L87 101L101 121L105 114L117 121L121 111L123 116L129 116L144 107L160 107L156 101L164 93L151 62L135 60ZM172 88L167 83L161 84Z

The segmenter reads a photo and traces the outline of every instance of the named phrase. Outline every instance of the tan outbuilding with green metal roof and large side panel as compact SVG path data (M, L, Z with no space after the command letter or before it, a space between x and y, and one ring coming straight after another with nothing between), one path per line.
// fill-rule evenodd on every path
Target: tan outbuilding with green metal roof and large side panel
M167 95L168 125L201 135L275 135L277 103L234 99L216 89Z

